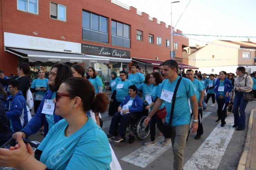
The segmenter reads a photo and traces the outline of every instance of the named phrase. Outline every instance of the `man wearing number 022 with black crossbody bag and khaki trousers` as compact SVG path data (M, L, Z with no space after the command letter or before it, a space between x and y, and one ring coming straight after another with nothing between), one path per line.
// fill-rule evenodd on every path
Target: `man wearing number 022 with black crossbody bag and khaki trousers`
M167 60L163 63L163 75L165 80L158 91L158 99L148 117L144 120L146 126L151 117L156 113L163 102L167 111L166 122L163 123L165 138L171 138L174 154L173 169L183 169L184 149L186 137L190 126L191 99L194 121L191 125L192 133L198 129L198 102L192 82L178 76L178 63L175 60Z

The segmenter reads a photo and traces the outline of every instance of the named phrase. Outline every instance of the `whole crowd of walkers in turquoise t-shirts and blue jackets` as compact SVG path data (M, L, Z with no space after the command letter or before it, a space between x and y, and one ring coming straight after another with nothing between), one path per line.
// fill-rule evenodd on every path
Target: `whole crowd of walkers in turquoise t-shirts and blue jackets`
M209 78L197 70L188 69L183 73L174 60L163 62L159 72L145 72L145 76L135 64L130 70L120 71L120 78L116 71L111 72L112 80L106 86L111 91L110 101L103 92L105 84L93 67L85 73L80 64L70 68L59 63L52 67L48 78L46 71L39 69L38 78L33 82L27 63L18 64L17 77L8 78L0 70L0 146L11 138L17 140L16 146L9 150L0 149L0 166L26 170L35 167L42 170L121 169L108 139L124 142L129 122L142 113L147 115L144 123L150 129L150 139L144 145L155 145L155 125L162 135L167 122L172 135L164 134L162 144L171 141L173 168L181 170L190 131L196 132L196 140L203 134L203 111L207 110L210 98L211 107L217 102L216 122L221 122L221 127L225 127L227 107L233 103L236 130L246 128L246 106L249 101L256 101L256 73L248 74L244 67L238 67L236 75L221 71L210 74ZM35 93L33 118L29 118L26 106L29 90ZM245 97L247 94L253 99ZM101 113L107 109L112 116L108 135L100 128ZM160 112L165 112L164 117L159 116ZM34 152L22 138L42 127L44 140Z

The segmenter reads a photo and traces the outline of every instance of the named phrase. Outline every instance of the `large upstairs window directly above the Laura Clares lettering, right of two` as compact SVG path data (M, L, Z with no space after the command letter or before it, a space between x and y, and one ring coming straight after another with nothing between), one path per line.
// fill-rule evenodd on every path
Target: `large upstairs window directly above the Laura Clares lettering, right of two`
M130 26L118 21L111 21L111 44L130 48Z

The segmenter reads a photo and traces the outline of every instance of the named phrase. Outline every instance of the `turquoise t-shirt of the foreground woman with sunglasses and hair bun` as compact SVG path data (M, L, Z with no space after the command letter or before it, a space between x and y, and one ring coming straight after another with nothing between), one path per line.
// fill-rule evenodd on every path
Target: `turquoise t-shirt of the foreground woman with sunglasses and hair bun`
M40 162L49 169L109 170L111 150L106 133L88 117L85 125L65 136L68 123L65 119L56 123L39 145Z

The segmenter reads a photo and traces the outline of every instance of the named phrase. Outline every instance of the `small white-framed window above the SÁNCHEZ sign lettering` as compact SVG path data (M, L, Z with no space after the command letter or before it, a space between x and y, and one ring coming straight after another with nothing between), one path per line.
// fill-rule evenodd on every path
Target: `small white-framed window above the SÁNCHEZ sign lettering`
M51 2L50 17L66 21L66 6Z

